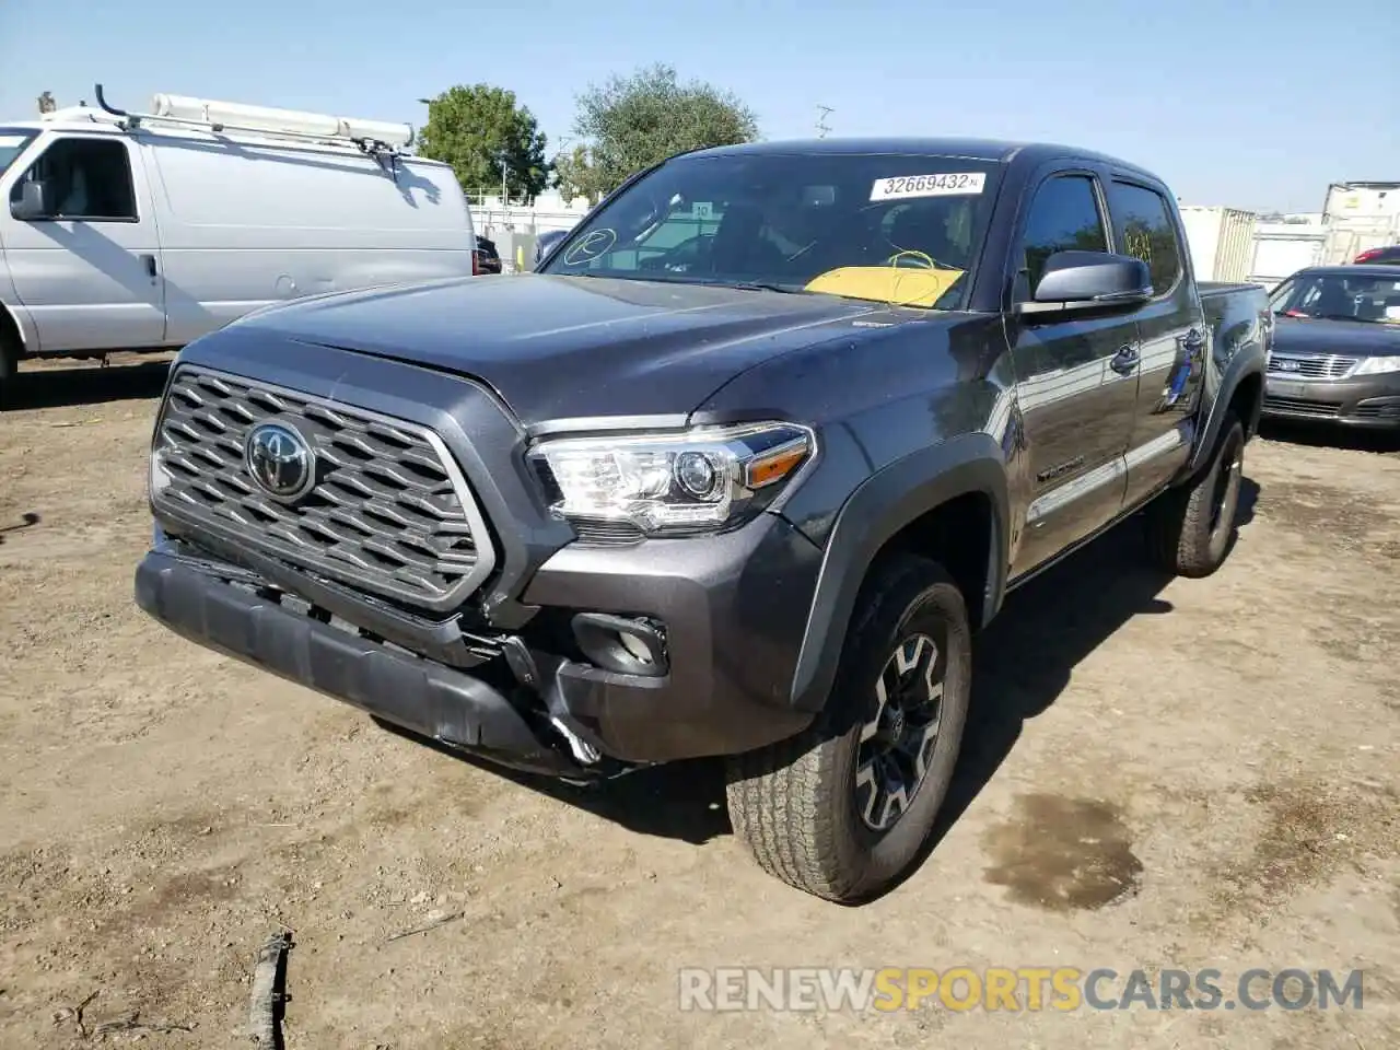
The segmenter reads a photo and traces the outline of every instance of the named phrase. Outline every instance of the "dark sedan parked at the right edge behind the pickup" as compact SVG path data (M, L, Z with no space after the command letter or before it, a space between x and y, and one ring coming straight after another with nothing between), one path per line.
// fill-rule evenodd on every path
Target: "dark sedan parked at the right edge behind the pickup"
M1400 272L1313 266L1270 295L1264 414L1400 428Z

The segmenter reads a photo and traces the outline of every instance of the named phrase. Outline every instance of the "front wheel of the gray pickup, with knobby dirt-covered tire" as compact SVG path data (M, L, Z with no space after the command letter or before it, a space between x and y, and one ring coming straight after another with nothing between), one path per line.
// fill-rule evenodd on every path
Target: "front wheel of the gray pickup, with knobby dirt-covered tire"
M924 682L941 683L942 696L921 707L920 693L934 692ZM729 760L735 834L760 868L813 896L857 903L890 888L918 858L948 794L970 687L972 631L952 577L914 556L878 566L857 599L823 714L790 741ZM911 750L872 763L896 736ZM916 739L925 756L921 780ZM892 760L917 783L904 792L903 812L888 819L899 799L864 773Z

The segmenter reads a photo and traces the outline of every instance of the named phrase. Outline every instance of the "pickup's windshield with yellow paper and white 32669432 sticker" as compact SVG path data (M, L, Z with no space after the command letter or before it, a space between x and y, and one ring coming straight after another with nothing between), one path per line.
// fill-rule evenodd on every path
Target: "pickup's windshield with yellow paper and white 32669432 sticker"
M956 309L1000 174L965 157L680 157L617 193L542 272Z

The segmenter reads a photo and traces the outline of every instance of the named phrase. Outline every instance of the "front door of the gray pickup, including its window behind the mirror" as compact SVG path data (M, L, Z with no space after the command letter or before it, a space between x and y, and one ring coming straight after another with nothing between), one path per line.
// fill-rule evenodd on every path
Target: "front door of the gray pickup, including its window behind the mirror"
M1046 259L1112 251L1093 172L1057 172L1022 224L1015 297L1028 300ZM1009 315L1016 400L1029 459L1029 504L1014 575L1053 559L1123 508L1124 454L1137 400L1137 318Z

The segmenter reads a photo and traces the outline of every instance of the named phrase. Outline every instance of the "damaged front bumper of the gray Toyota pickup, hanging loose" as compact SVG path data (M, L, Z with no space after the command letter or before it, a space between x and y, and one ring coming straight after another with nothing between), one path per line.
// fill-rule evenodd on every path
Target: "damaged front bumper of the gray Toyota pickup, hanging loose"
M820 552L781 518L706 542L564 547L512 630L423 620L246 550L168 536L136 602L196 644L410 734L566 780L738 755L799 732L790 686ZM655 624L647 666L580 641ZM580 651L581 650L581 651ZM589 655L592 652L592 655ZM612 662L612 666L609 666Z

